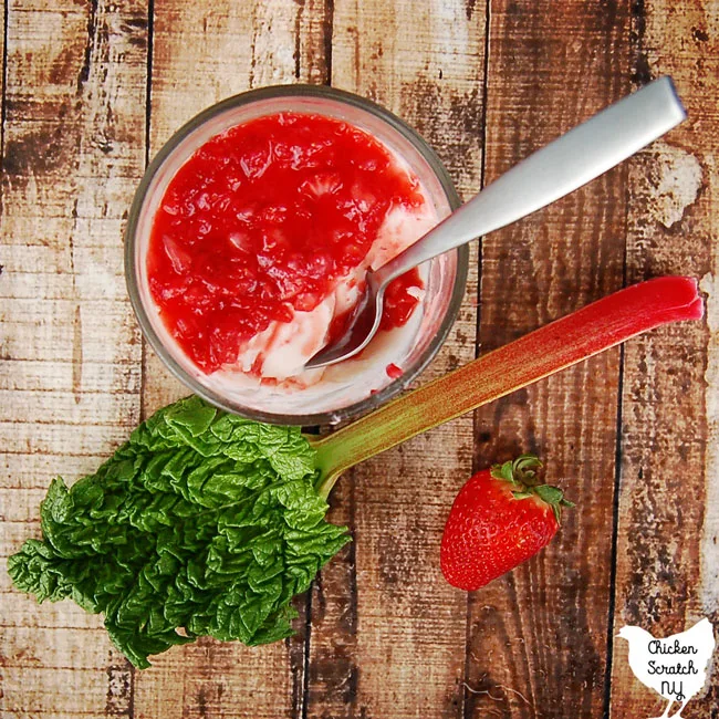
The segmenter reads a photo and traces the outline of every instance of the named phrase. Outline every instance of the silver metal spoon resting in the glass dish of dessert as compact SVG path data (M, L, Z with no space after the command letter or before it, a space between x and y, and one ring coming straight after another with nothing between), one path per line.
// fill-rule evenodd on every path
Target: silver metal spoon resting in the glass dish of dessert
M553 140L486 187L427 235L375 271L344 335L305 368L347 359L379 327L395 278L442 252L531 215L618 165L686 118L670 77L660 77Z

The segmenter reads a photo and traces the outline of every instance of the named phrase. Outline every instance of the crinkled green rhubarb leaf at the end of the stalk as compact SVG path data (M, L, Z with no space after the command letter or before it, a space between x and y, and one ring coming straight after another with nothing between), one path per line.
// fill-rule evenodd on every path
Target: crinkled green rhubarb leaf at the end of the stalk
M292 597L350 541L325 520L314 462L296 428L181 399L94 475L52 481L43 540L9 558L10 576L39 602L102 613L139 668L204 635L275 642L292 634Z

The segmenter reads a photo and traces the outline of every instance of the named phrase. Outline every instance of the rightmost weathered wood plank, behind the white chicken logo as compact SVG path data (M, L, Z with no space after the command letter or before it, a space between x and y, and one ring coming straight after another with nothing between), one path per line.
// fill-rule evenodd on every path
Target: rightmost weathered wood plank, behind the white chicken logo
M704 616L719 623L719 7L647 0L632 41L634 82L671 75L688 121L632 160L627 281L689 274L707 296L706 324L638 337L624 358L614 633L636 624L660 637ZM612 669L612 716L664 710L623 639ZM718 706L715 661L682 716L716 717Z

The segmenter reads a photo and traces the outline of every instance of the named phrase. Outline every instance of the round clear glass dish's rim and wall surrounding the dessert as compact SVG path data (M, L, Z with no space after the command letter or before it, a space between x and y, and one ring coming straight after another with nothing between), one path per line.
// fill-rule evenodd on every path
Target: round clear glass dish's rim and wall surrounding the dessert
M191 392L228 411L277 425L324 425L346 420L384 404L400 393L433 359L449 333L465 294L469 251L435 258L425 267L426 293L415 311L415 331L402 356L394 357L404 374L386 376L386 354L376 367L338 365L338 383L292 394L272 388L232 388L205 375L185 356L165 329L147 282L146 253L153 221L177 170L207 140L236 125L279 112L311 113L355 125L379 139L419 178L439 218L459 206L459 197L435 152L408 125L383 107L357 95L311 85L280 85L229 97L184 125L153 159L135 195L125 233L125 275L140 329L160 359ZM419 314L420 313L420 314ZM413 317L414 319L414 317ZM410 320L411 322L411 320ZM371 354L372 356L372 354ZM358 367L363 363L356 363ZM383 374L384 373L384 374ZM376 375L376 377L375 377ZM376 382L375 382L376 379ZM378 386L371 386L378 384Z

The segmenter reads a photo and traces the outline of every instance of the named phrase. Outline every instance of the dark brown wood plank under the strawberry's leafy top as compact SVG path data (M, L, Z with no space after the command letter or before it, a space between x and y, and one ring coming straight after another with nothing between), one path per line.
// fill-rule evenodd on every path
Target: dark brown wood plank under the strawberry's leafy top
M627 15L615 2L491 2L487 183L627 92ZM625 175L484 240L482 352L622 285ZM538 558L470 595L468 717L602 716L618 359L477 413L477 467L536 452L579 507Z

